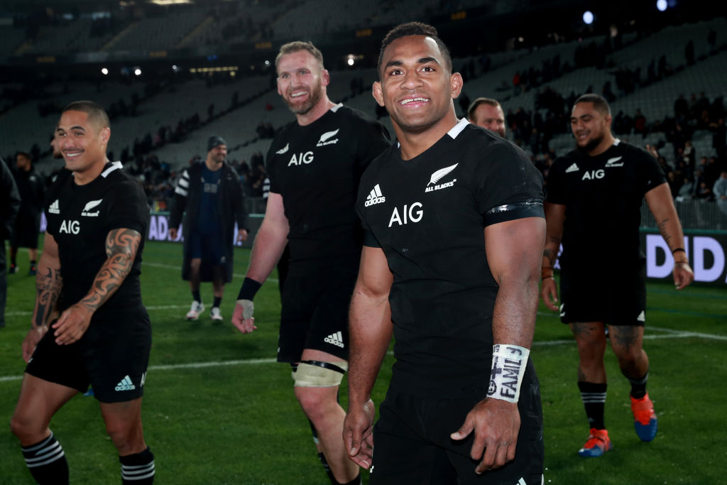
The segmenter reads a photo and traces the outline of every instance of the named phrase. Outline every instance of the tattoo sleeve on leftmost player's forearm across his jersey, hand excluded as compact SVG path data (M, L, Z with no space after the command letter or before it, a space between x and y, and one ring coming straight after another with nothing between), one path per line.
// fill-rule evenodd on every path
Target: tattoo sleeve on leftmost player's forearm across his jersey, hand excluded
M114 229L106 236L107 259L96 273L91 290L79 303L94 312L116 293L134 264L141 234L133 229Z

